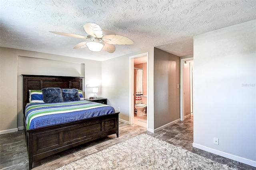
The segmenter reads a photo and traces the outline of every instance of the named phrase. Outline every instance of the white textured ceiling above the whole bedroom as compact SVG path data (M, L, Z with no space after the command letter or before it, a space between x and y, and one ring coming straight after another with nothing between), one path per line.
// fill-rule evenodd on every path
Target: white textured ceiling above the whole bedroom
M193 54L193 36L256 19L256 0L0 0L0 46L104 61L157 47L178 56ZM96 23L104 35L129 37L116 51L73 49Z

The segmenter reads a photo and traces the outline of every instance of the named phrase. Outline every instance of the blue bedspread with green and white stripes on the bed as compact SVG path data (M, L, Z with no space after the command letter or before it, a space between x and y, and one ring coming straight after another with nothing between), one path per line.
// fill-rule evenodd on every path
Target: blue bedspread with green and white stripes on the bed
M25 108L27 129L56 125L115 113L112 106L80 100L77 102L34 103Z

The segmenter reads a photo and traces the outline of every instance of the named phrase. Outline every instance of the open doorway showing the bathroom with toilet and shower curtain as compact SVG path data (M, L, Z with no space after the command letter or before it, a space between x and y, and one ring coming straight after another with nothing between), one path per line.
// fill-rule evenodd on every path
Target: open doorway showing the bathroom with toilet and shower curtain
M131 58L130 124L148 127L148 55Z

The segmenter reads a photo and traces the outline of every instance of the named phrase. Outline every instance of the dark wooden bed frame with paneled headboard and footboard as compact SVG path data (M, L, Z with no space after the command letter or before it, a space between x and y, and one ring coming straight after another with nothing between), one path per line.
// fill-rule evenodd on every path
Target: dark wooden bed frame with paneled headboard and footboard
M66 149L116 133L118 137L118 114L92 117L89 119L26 130L25 107L29 103L28 90L47 87L77 88L82 90L82 77L68 76L23 76L23 118L28 147L29 169L33 161L62 152Z

